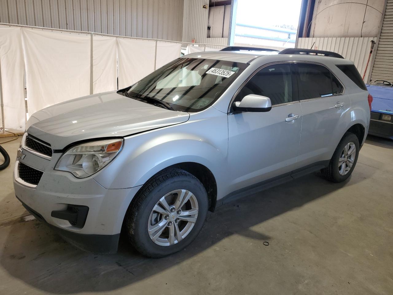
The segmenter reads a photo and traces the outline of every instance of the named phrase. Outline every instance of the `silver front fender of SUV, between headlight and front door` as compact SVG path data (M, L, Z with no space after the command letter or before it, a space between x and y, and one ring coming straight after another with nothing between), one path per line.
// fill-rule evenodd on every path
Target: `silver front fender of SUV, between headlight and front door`
M217 111L218 112L218 111ZM220 112L220 114L222 114ZM214 126L212 128L212 126ZM226 114L189 121L125 138L123 150L93 178L108 189L145 184L154 174L182 162L206 166L217 190L225 177L228 157Z

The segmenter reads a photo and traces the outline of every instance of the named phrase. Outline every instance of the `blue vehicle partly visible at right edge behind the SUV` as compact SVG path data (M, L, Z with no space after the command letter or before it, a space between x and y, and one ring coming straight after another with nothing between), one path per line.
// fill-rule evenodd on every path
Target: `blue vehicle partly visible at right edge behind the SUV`
M366 85L373 96L369 134L393 139L393 84L377 80Z

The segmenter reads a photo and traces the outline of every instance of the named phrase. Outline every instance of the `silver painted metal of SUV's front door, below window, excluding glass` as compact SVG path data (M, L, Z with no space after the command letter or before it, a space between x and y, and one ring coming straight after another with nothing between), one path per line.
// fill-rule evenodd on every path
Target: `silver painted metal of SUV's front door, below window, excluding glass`
M227 194L295 168L301 117L285 122L291 113L301 116L300 103L228 115Z

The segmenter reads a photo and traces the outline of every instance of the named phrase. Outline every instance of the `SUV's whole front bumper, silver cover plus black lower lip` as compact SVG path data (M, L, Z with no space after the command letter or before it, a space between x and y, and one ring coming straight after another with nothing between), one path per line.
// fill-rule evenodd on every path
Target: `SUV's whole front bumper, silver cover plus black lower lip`
M21 181L15 167L15 195L22 205L77 247L94 253L116 252L125 213L140 186L108 190L91 177L77 179L71 173L53 170L60 154L54 153L48 160L27 150L23 153L16 165L21 162L43 174L36 186L30 186ZM70 205L88 207L83 227L53 217L58 216L53 212L67 210Z

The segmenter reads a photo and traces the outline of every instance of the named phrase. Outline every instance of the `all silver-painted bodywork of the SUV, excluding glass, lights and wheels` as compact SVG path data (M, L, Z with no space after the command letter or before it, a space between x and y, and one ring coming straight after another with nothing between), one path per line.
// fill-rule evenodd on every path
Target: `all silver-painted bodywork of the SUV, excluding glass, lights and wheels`
M44 174L35 189L14 179L17 196L57 227L86 234L117 234L138 189L155 173L173 164L196 162L206 166L216 179L217 199L221 199L234 190L308 162L329 160L344 132L353 124L363 125L367 134L370 116L367 91L360 90L335 66L351 64L350 61L231 52L200 52L185 58L201 56L250 63L204 111L174 112L108 92L67 101L34 114L28 123L28 133L55 149L107 136L125 136L124 147L103 170L85 179L53 170L61 153L46 160L24 151L26 157L21 161ZM256 70L270 63L296 61L327 66L345 85L344 94L340 98L274 106L269 112L230 113L232 98ZM345 101L340 110L334 108L338 100ZM316 118L313 112L323 118ZM299 118L285 122L290 114ZM317 134L318 141L312 134ZM69 203L89 206L88 221L82 229L50 216L51 210L61 210Z

